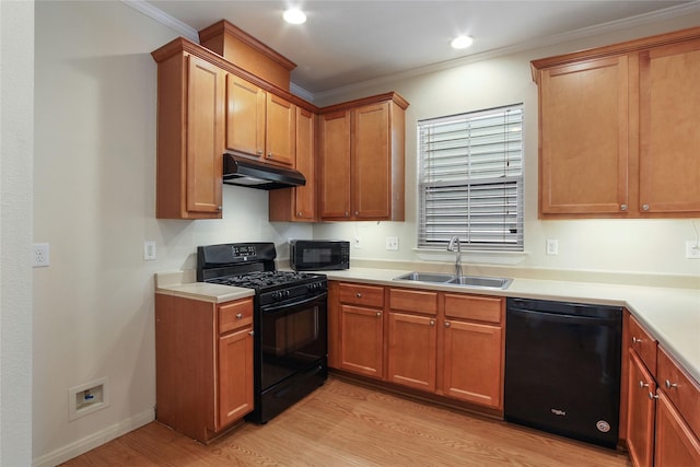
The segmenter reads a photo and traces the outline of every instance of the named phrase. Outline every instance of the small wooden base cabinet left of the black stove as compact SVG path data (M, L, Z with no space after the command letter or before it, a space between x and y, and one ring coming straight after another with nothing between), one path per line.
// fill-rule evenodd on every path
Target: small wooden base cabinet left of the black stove
M155 294L155 399L159 421L202 443L253 410L253 299Z

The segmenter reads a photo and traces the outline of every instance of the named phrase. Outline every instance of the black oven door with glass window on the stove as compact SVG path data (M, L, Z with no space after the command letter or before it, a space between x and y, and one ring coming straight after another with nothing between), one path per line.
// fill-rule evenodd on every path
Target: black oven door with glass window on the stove
M260 390L325 359L328 353L327 297L260 307Z

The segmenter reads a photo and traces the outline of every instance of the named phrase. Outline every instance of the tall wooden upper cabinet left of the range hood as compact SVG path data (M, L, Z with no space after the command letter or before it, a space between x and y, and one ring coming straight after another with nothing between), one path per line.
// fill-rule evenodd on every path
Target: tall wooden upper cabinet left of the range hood
M226 73L186 50L158 61L159 219L221 219Z

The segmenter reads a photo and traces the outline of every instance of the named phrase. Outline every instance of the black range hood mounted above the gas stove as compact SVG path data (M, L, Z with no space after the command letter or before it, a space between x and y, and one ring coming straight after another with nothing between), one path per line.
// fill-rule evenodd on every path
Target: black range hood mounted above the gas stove
M304 186L306 178L292 168L277 167L226 152L223 154L223 183L269 190Z

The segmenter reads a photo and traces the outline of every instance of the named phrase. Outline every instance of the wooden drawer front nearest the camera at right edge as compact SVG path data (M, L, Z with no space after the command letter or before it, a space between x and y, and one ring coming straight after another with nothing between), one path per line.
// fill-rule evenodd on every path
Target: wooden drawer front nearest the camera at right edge
M696 436L700 436L700 386L687 376L661 347L656 382L686 419Z

